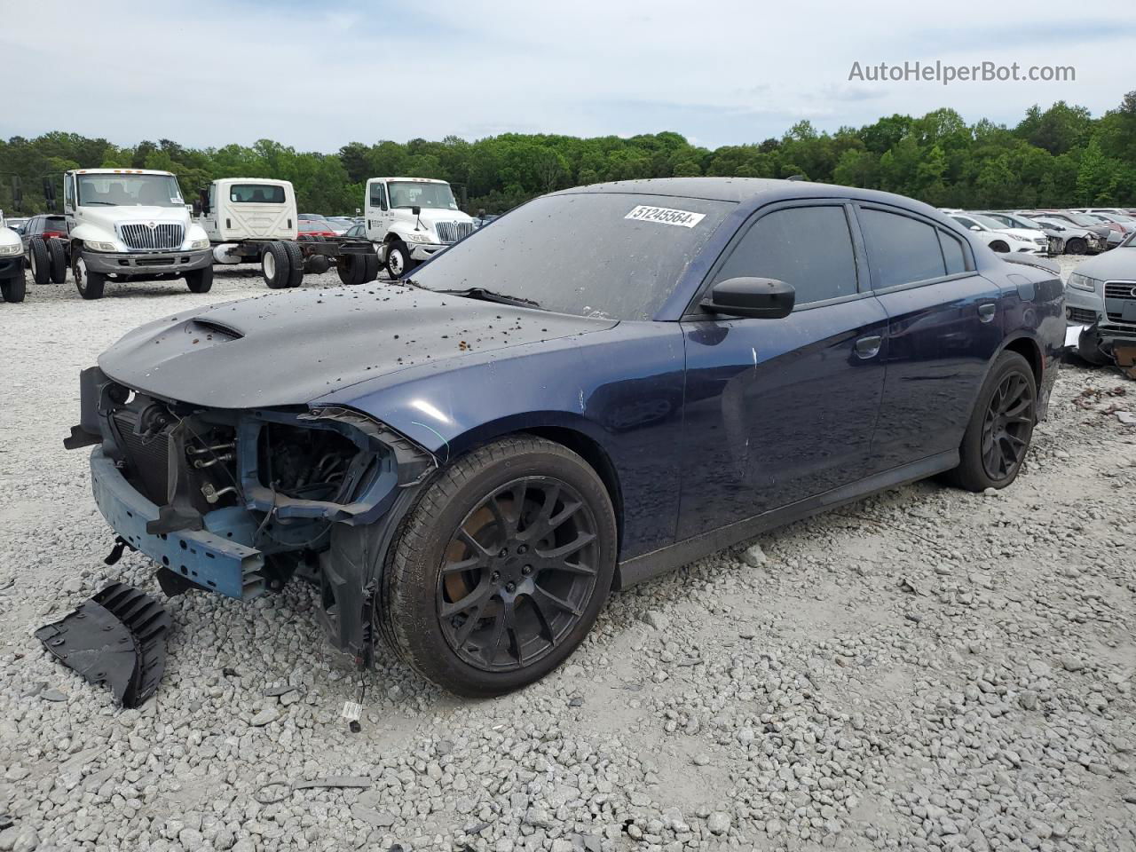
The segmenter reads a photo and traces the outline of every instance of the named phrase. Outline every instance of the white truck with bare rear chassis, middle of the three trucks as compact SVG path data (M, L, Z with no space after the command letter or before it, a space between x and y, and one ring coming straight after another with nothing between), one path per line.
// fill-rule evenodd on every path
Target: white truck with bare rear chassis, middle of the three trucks
M335 264L344 284L378 277L379 260L366 240L304 237L299 233L295 192L289 181L226 177L201 190L193 204L218 264L260 264L273 290L295 287L304 272Z

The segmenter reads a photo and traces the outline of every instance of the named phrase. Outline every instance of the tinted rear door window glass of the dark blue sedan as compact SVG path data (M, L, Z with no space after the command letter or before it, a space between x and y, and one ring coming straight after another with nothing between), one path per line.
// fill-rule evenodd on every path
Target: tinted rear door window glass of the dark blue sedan
M860 226L876 287L894 287L946 275L938 228L910 216L863 208Z

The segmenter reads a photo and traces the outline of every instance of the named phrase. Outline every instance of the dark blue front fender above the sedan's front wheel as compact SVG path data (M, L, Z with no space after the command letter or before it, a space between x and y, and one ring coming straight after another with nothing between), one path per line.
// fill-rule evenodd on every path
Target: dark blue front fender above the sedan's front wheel
M611 462L620 559L674 542L684 351L676 323L604 331L425 365L319 399L364 411L442 466L506 434L570 429Z

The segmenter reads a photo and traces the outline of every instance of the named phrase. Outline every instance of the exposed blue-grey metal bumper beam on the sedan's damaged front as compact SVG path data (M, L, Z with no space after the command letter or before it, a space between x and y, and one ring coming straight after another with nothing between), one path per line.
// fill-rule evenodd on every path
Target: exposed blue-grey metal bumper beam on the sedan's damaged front
M204 529L151 534L145 531L147 523L157 520L159 508L134 490L101 449L91 453L91 485L107 523L158 565L237 600L264 593L264 556L234 541L251 535L242 528L250 523L243 510L210 512Z

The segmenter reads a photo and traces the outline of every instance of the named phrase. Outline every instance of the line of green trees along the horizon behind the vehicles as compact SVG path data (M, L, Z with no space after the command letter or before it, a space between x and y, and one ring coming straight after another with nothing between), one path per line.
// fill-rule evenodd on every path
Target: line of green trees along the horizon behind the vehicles
M156 168L177 175L187 197L219 177L276 177L295 186L302 211L353 214L368 177L440 177L466 210L502 212L535 195L600 181L717 175L790 177L864 186L936 207L1136 204L1136 91L1094 118L1058 101L1034 106L1014 127L968 125L953 109L892 115L863 127L818 132L809 122L779 139L717 149L677 133L579 139L507 133L469 142L351 142L335 153L251 147L183 148L170 140L120 148L52 132L0 141L0 209L11 210L7 175L19 175L24 210L45 209L42 177L68 168Z

